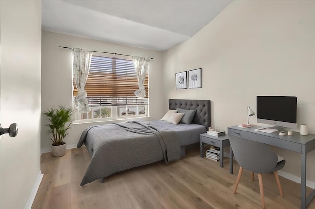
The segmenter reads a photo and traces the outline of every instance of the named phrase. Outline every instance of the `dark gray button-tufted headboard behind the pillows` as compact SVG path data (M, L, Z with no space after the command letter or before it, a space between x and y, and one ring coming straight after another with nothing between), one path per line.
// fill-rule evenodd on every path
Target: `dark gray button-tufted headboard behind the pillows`
M176 107L182 109L193 110L196 109L196 114L192 120L192 123L204 125L207 130L211 126L211 114L210 114L210 100L168 100L169 109L176 109Z

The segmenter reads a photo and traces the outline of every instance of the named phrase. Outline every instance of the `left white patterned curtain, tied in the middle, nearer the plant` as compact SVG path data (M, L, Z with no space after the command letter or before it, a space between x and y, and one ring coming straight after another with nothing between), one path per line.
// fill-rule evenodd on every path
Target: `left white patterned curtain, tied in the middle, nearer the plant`
M73 48L73 78L75 78L75 86L78 89L78 95L74 98L74 107L78 109L79 114L90 112L88 104L87 92L84 90L86 80L89 75L92 51Z

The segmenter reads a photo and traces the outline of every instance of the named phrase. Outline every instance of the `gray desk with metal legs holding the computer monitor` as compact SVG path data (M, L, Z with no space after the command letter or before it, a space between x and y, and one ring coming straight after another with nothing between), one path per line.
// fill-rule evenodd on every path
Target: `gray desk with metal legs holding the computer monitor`
M307 205L315 196L315 190L306 197L306 154L315 150L315 135L309 134L307 136L300 135L299 132L293 132L292 136L279 136L277 131L275 133L264 133L254 131L259 126L252 126L249 128L240 128L238 126L228 127L228 134L241 136L254 141L259 141L265 144L280 147L286 150L291 150L301 154L301 209L306 209ZM233 151L230 148L230 173L233 173Z

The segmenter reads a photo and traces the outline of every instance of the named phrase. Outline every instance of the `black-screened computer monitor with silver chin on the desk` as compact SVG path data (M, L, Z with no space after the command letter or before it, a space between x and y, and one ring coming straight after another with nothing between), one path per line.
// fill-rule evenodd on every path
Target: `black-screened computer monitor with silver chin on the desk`
M297 127L297 97L257 96L257 122L278 127ZM278 128L279 130L279 128Z

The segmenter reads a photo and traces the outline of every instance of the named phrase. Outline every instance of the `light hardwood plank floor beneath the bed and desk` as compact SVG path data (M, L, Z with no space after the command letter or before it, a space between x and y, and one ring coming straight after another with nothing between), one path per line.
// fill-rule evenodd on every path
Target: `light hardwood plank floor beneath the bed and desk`
M206 150L206 149L205 149ZM199 149L181 160L164 161L113 174L80 186L90 156L86 148L67 150L63 157L41 156L44 174L32 209L260 209L258 175L244 170L237 193L233 189L239 166L229 173L229 158L214 162L201 158ZM279 196L273 174L263 174L266 209L300 207L300 185L280 177ZM308 189L308 193L310 189ZM315 208L313 200L308 209Z

